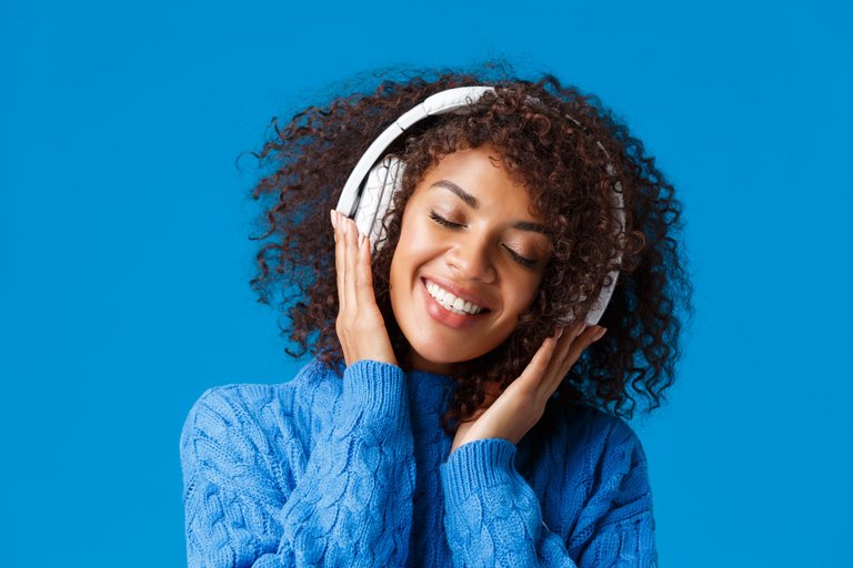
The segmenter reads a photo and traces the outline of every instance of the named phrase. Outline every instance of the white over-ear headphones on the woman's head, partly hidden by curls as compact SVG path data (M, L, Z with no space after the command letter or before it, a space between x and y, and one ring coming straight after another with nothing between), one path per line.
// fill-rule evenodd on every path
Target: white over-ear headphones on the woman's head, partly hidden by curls
M369 236L373 246L377 246L377 243L381 242L384 237L382 220L391 205L391 196L402 185L403 171L405 169L403 161L394 155L389 154L380 160L382 153L415 122L428 116L465 109L479 101L480 98L488 92L493 93L494 88L460 87L441 91L429 97L422 103L397 119L373 141L372 144L370 144L370 148L368 148L364 154L362 154L361 159L355 164L355 168L353 168L352 173L350 173L347 183L343 185L343 191L341 192L335 210L350 219L354 219L359 233ZM531 98L531 100L539 102L538 99L534 98ZM578 121L571 116L568 118L572 122L578 123ZM602 150L606 159L610 160L608 151L600 141L598 142L598 146ZM615 173L615 170L610 162L606 164L606 171L611 176ZM622 200L622 184L618 180L615 181L614 190L611 193L615 212L614 216L620 229L624 230L625 214ZM618 253L615 261L616 263L622 261L621 252ZM585 321L588 325L594 325L601 320L604 310L608 307L608 303L610 303L610 297L613 295L613 288L616 286L619 271L611 271L610 277L610 285L604 286L601 290L598 301L586 314ZM572 317L570 316L561 322L561 324L568 325L571 321Z

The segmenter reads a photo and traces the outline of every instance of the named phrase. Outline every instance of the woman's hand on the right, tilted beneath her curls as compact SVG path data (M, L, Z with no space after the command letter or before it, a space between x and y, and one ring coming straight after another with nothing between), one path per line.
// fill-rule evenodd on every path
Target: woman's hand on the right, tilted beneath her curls
M542 343L521 376L503 393L496 385L486 389L483 406L459 424L450 452L469 442L485 438L503 438L518 444L542 417L545 403L583 349L605 333L606 328L599 325L586 328L583 322L558 329L553 337Z

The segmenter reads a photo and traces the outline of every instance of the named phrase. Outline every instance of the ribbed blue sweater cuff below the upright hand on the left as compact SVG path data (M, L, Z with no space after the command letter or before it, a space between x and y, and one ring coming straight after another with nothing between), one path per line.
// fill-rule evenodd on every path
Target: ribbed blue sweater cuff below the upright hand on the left
M343 403L363 419L401 425L408 410L403 369L378 361L357 361L343 372Z

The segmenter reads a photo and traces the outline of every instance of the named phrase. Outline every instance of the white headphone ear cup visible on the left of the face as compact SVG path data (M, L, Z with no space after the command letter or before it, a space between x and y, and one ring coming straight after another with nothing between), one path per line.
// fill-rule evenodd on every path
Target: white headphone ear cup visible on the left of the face
M402 186L405 164L393 154L377 162L364 179L355 209L355 226L368 235L374 250L385 237L382 221L391 206L391 197Z

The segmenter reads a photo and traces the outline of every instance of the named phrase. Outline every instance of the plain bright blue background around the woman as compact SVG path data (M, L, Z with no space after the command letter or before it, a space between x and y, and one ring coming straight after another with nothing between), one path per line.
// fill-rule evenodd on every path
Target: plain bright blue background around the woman
M634 422L661 565L852 566L851 4L688 4L3 0L0 564L185 561L187 412L299 367L238 155L353 73L505 55L598 93L685 206L696 316Z

